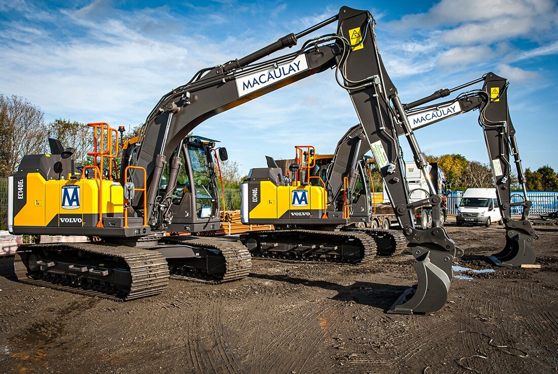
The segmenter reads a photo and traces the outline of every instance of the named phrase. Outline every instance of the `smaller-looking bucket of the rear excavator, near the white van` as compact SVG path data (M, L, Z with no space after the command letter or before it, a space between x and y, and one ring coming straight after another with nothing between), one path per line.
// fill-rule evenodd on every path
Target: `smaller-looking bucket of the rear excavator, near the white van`
M497 266L521 266L523 264L534 264L536 260L535 251L532 248L533 240L538 235L531 228L531 222L525 222L525 229L506 231L506 247L501 252L490 255L488 258Z

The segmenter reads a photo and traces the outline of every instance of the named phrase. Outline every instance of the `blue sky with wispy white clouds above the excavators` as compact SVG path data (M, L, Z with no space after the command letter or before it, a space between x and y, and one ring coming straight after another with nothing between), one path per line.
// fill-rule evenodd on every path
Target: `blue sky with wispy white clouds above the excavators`
M3 1L0 93L39 106L47 122L135 126L199 69L242 58L343 5L374 15L378 48L404 103L487 72L507 78L523 167L558 171L556 1ZM422 151L487 163L477 116L417 130ZM195 132L222 140L247 173L263 167L266 154L292 158L299 144L331 153L357 121L330 71L215 116ZM405 158L412 159L408 148Z

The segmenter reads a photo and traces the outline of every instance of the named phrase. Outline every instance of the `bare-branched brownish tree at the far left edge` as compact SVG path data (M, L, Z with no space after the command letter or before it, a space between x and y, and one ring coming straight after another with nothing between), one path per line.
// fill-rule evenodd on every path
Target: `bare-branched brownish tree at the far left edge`
M23 155L45 150L46 126L41 109L21 96L0 94L0 178L20 164Z

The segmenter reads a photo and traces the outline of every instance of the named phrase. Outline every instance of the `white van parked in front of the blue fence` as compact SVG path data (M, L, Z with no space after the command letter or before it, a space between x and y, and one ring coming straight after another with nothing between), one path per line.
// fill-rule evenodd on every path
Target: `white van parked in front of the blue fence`
M494 188L467 188L455 217L457 225L473 224L490 226L493 222L503 224Z

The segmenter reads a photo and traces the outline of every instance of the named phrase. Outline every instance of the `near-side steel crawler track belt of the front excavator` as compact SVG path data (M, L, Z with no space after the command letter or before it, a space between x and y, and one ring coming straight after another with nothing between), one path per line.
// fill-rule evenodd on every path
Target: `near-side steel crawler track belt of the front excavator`
M128 301L139 299L140 297L154 296L161 293L169 284L169 267L165 258L154 250L138 249L132 247L118 246L110 247L99 244L89 243L52 243L52 244L32 244L23 248L29 249L49 249L53 250L83 250L85 252L120 259L127 263L132 283L130 291L126 297L117 297L102 291L88 290L68 285L59 285L45 280L35 280L27 276L27 268L22 263L21 258L16 254L14 258L14 268L16 276L20 282L30 285L54 288L55 290L76 293L78 295L96 296L103 299L114 301ZM23 249L22 248L22 249Z

